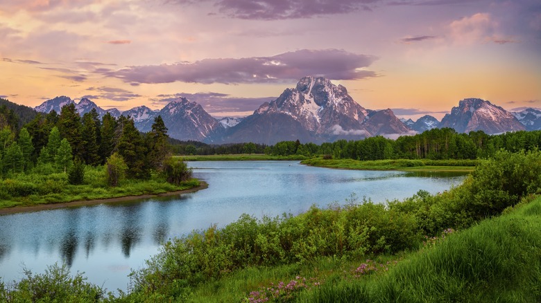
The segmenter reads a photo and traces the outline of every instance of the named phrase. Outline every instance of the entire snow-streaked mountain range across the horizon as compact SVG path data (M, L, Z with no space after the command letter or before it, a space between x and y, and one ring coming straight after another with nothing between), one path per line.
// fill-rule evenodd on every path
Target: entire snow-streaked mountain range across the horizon
M451 127L458 132L481 130L487 134L505 131L541 129L541 111L525 109L510 113L501 107L478 98L458 102L440 121L423 116L417 121L395 116L391 109L365 109L341 85L334 85L323 77L304 77L295 88L284 90L276 100L265 102L245 118L216 119L200 104L178 98L161 110L135 107L128 111L105 111L87 98L78 103L66 96L47 100L36 111L60 112L66 104L76 104L83 115L93 108L100 116L130 116L137 129L150 131L154 118L162 116L168 134L178 140L198 140L205 143L253 142L272 145L284 140L302 143L332 142L338 139L359 140L369 136L415 134L436 127Z

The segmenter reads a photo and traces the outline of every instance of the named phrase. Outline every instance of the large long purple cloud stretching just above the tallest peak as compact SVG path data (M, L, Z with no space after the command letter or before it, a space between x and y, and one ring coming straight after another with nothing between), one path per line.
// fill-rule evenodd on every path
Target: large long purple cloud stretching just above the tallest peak
M131 83L282 83L307 75L323 76L330 80L358 80L377 75L373 71L361 70L376 59L371 55L358 55L345 50L297 50L273 57L128 66L105 75Z

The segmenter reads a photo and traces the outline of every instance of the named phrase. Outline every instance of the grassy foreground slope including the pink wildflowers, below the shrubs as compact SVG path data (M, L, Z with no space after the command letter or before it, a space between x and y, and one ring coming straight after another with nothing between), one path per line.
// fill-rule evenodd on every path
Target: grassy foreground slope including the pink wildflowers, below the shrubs
M540 302L541 196L419 250L252 266L178 293L186 302ZM361 270L363 264L365 270ZM279 289L276 297L268 288ZM293 285L292 287L291 285ZM286 288L286 286L290 288ZM261 295L266 293L267 296ZM259 295L259 296L257 296Z

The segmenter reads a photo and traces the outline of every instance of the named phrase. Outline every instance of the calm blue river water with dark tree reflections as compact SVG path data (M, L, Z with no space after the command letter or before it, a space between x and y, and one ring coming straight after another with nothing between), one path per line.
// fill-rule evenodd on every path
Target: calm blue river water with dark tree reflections
M160 244L243 213L298 214L311 205L357 198L384 202L418 190L443 192L464 174L413 174L307 167L296 161L194 162L209 188L182 196L0 216L0 278L20 279L22 268L43 273L65 262L73 273L109 290L126 290L130 268L144 266Z

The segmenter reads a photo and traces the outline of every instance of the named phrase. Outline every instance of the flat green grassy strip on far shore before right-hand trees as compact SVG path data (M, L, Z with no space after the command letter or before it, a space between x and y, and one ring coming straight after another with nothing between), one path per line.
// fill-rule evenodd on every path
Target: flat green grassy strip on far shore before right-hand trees
M340 169L366 169L366 170L405 170L405 171L454 171L471 172L479 163L478 160L371 160L361 161L352 159L311 158L301 161L304 165L332 167Z

